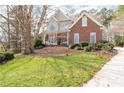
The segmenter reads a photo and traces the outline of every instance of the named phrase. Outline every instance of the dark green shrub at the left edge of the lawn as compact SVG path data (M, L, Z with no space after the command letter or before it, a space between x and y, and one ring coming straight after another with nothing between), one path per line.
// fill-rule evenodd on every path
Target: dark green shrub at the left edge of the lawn
M14 58L13 53L0 53L0 63L6 62Z

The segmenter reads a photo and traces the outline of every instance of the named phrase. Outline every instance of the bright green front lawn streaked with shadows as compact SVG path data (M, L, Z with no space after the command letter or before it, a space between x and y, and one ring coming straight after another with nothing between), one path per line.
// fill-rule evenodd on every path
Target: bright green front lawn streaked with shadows
M109 59L93 53L18 57L0 65L0 86L82 86Z

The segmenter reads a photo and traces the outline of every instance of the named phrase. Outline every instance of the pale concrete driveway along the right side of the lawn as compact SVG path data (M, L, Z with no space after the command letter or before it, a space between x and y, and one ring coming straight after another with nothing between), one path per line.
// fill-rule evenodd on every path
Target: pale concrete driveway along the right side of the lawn
M124 48L116 47L114 56L84 87L124 87Z

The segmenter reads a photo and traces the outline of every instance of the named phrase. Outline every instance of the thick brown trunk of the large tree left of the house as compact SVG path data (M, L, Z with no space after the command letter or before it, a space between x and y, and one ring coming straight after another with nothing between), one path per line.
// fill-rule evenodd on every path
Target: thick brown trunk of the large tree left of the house
M31 54L33 53L33 46L32 46L32 35L31 35L31 30L32 30L32 9L33 6L30 6L29 9L27 9L28 6L24 6L23 10L23 23L22 25L22 32L23 32L23 43L24 43L24 48L23 48L23 53L24 54ZM28 12L29 11L29 12ZM28 13L27 13L28 12Z

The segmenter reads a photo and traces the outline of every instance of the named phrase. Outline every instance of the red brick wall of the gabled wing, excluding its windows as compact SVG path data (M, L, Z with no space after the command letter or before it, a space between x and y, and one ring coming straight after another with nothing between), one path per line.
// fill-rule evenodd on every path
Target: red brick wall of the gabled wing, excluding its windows
M84 15L85 16L85 15ZM80 18L76 24L70 28L69 32L69 44L74 44L74 33L79 33L79 42L90 41L90 33L96 32L96 42L102 40L102 30L100 26L93 20L87 17L87 27L82 27L82 18Z

